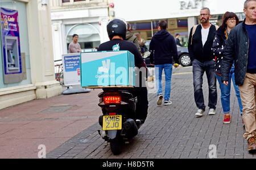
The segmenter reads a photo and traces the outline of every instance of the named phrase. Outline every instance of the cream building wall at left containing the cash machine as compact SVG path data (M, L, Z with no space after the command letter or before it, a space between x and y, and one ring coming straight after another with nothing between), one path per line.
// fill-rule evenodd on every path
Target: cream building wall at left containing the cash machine
M0 109L61 94L46 1L0 1Z

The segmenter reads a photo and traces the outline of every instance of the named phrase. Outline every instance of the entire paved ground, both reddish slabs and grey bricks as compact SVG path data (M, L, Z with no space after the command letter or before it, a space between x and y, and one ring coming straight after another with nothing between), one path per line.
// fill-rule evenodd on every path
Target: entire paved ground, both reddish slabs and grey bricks
M0 110L0 158L37 158L40 144L46 146L47 158L208 158L210 144L217 147L217 158L255 158L247 152L242 136L234 89L230 125L222 123L219 88L217 114L196 118L192 67L174 69L173 73L172 105L157 106L156 94L149 93L147 120L121 155L114 156L98 135L98 116L102 113L97 94L101 90L92 90ZM204 77L205 105L206 80Z

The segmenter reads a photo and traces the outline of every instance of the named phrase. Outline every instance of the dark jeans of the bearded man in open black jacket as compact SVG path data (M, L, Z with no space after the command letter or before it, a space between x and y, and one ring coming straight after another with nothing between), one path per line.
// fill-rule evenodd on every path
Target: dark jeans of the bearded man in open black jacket
M214 75L214 61L193 60L193 86L194 86L194 97L196 106L199 109L205 110L204 105L204 94L203 94L203 76L207 74L209 97L208 106L210 109L216 109L217 105L217 87L216 77Z

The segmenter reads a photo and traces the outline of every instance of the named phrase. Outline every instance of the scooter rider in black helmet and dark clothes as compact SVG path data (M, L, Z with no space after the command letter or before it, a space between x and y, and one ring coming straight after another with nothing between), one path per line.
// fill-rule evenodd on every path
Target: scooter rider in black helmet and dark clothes
M109 35L109 42L102 43L98 48L98 51L119 51L119 50L127 50L134 55L135 67L146 68L146 64L139 53L137 46L134 43L127 42L126 39L126 31L127 24L121 19L113 19L107 25L107 31ZM146 77L142 77L141 79L135 78L136 80L140 80L139 87L135 87L132 89L128 89L132 94L137 96L137 106L136 106L136 122L144 123L147 117L147 109L148 109L148 100L147 100L147 88L143 87L141 81L146 81ZM144 83L145 84L145 83Z

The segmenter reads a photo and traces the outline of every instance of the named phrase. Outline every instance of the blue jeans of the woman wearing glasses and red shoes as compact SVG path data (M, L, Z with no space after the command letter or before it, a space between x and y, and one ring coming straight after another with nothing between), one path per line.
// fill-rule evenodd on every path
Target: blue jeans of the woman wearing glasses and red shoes
M237 96L237 100L238 100L238 105L240 108L240 113L242 114L243 106L242 106L239 88L235 83L234 71L231 70L229 73L229 84L227 86L225 84L223 84L223 82L221 82L221 76L219 76L218 74L215 74L215 76L218 80L218 84L220 84L221 105L222 105L223 113L224 114L230 113L230 89L231 89L231 80L232 80L233 85L234 85L234 90L236 92L236 96Z

